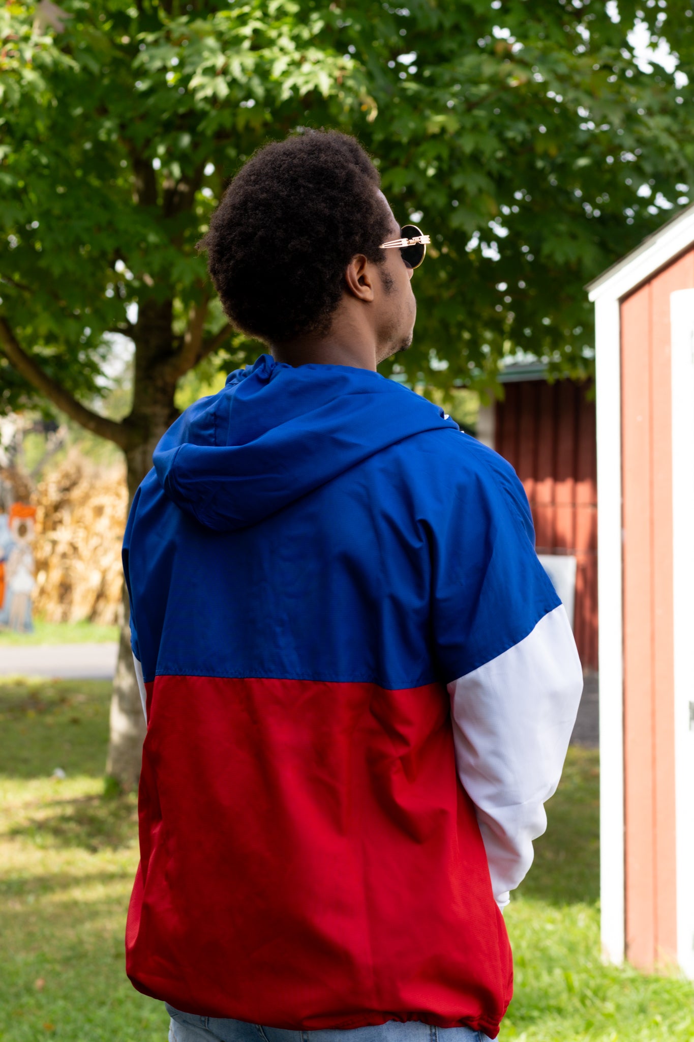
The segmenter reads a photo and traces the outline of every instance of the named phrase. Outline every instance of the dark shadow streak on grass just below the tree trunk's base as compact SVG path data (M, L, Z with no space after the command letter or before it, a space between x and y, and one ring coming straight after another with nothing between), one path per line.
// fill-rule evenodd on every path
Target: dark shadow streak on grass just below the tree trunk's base
M92 853L119 850L137 837L137 805L132 796L84 796L42 807L52 813L12 825L8 834L37 847L79 847Z

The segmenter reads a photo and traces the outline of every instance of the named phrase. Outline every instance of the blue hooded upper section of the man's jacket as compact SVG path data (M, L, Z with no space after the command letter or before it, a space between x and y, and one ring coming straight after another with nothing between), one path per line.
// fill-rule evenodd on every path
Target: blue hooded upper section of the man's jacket
M123 561L146 680L447 683L559 603L500 456L377 373L265 355L162 438Z

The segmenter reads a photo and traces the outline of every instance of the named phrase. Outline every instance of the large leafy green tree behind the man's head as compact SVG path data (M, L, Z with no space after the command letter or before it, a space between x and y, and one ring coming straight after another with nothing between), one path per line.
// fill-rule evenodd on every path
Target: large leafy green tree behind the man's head
M181 376L260 349L226 323L196 242L264 141L355 132L401 220L421 215L433 262L391 367L440 387L493 387L519 347L585 375L583 283L689 198L687 0L63 6L0 10L0 407L48 398L110 439L131 496ZM676 41L677 76L635 57L635 22ZM99 410L109 332L135 345L121 421ZM109 770L125 786L142 740L129 663L124 639Z

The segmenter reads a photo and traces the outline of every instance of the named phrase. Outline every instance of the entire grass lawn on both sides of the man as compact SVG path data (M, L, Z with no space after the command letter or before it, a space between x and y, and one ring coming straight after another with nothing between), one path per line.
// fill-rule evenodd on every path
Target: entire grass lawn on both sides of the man
M164 1042L125 976L133 796L103 797L109 685L0 680L0 1040ZM52 777L55 768L66 777ZM516 992L502 1042L691 1042L694 987L599 958L597 755L571 749L506 920Z

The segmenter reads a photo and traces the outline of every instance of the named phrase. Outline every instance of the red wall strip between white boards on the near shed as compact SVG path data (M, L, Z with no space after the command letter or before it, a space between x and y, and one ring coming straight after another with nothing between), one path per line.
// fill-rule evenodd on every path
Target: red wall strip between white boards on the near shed
M670 294L694 250L621 303L626 957L676 958Z

